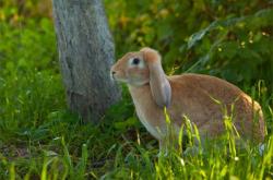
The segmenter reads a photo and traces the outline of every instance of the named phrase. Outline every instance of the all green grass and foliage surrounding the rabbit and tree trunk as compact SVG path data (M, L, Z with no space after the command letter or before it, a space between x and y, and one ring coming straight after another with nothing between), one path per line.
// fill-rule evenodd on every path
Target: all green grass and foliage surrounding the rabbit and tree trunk
M258 145L236 146L232 117L219 140L194 146L198 129L185 117L180 151L169 143L157 156L126 87L102 123L83 123L66 106L50 1L7 0L0 1L0 179L272 179L272 2L105 0L105 7L117 57L151 46L168 74L213 74L260 101L263 155Z

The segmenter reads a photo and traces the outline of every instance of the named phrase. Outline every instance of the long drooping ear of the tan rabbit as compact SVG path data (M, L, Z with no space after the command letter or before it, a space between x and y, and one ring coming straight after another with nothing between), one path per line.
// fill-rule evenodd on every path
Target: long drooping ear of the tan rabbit
M171 99L169 81L162 68L161 56L151 48L141 49L150 70L150 87L155 103L159 107L168 107Z

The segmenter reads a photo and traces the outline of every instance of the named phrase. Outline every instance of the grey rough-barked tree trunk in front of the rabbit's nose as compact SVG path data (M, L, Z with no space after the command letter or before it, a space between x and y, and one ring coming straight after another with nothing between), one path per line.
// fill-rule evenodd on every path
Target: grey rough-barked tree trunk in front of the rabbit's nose
M100 0L54 0L59 59L69 107L97 122L120 98L110 80L114 43Z

